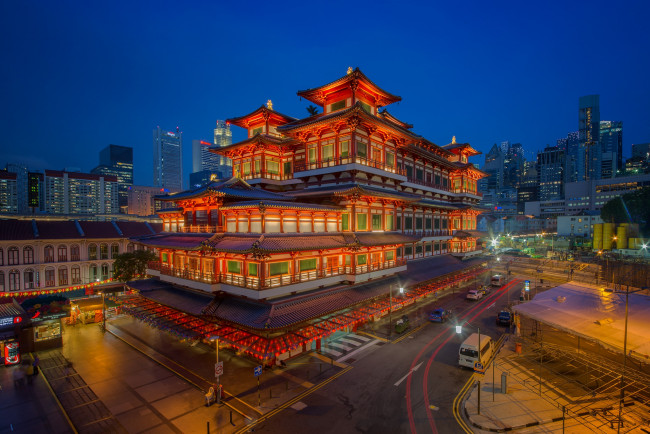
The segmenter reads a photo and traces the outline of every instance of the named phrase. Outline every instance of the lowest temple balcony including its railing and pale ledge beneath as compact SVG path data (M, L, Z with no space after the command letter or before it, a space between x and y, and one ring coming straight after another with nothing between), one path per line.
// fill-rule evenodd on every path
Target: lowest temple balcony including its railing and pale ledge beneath
M262 280L258 276L179 269L159 262L150 262L147 266L147 274L157 276L163 281L206 292L226 291L255 299L279 297L292 292L344 282L364 282L404 270L406 270L406 259L397 259L356 267L326 267L322 270L270 276Z

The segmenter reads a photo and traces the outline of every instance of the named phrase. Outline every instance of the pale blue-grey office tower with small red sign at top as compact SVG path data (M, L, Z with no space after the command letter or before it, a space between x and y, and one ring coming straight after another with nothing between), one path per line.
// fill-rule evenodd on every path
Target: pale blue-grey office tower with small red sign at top
M183 188L183 133L153 130L153 183L155 187L181 190Z

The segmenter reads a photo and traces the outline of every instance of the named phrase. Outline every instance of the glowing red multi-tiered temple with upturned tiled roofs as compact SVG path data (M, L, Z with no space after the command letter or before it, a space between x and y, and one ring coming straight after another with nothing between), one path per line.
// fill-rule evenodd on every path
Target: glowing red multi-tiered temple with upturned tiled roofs
M158 252L149 274L218 294L204 314L234 323L224 298L277 310L287 297L350 291L418 258L480 253L477 181L486 174L468 160L478 151L414 133L385 108L401 98L359 69L298 95L322 113L296 119L269 101L230 119L247 138L213 152L232 159L233 177L159 197L173 205L158 213L163 232L138 239ZM279 330L319 312L240 324Z

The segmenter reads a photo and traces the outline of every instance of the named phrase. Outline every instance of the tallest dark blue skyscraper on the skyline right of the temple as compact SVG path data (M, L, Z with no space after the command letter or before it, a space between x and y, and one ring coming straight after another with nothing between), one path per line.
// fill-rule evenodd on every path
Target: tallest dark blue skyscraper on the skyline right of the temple
M578 181L600 179L600 96L581 96L578 109L579 150L584 163L576 165Z

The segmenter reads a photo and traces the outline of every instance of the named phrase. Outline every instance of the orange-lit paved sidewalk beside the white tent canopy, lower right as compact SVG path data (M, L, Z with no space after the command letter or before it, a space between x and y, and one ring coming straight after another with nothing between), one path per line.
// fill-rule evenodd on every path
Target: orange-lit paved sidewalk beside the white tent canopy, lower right
M600 401L601 408L614 407L613 411L582 412L572 414L567 410L563 417L563 406L571 408L569 393L554 387L559 379L544 373L527 370L517 364L512 336L507 341L494 363L485 372L480 382L470 389L469 397L463 403L463 416L468 425L478 433L517 431L521 433L616 433L617 426L611 426L618 406L614 402ZM501 393L502 373L507 373L507 393ZM493 382L494 377L494 382ZM494 390L494 392L493 392ZM579 392L576 391L576 395ZM616 413L617 414L617 413ZM564 420L563 420L564 419ZM628 418L626 420L629 421ZM647 433L630 424L621 428L626 433Z

